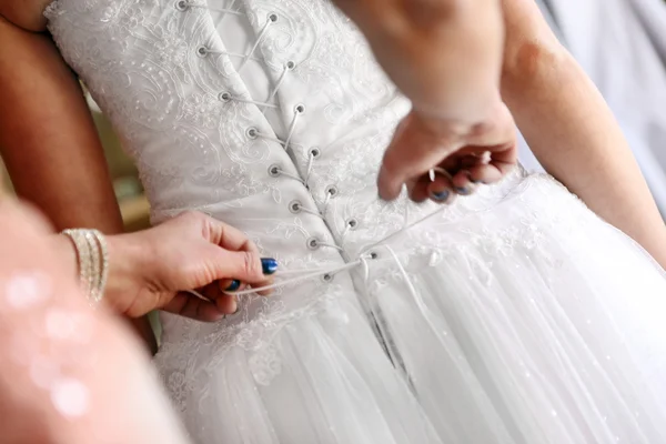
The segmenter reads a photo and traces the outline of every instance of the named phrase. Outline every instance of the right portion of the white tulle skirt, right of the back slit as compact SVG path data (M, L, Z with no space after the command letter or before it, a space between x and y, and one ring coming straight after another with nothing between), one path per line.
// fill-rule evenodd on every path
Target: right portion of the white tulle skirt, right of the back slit
M373 301L447 442L666 442L666 279L644 251L546 178L432 229Z

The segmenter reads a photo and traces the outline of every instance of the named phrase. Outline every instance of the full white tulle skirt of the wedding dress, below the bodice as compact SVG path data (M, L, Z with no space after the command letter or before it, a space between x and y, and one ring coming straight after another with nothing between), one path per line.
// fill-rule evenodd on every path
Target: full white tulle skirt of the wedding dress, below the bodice
M666 275L553 180L431 218L367 271L259 347L165 344L193 441L666 443Z

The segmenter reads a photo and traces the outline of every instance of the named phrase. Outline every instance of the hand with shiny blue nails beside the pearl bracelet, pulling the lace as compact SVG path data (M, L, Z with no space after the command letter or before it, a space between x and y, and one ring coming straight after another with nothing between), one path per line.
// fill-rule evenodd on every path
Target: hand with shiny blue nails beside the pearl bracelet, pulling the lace
M194 212L139 233L109 236L108 243L105 300L130 317L162 309L200 321L220 320L238 310L236 299L225 290L270 284L278 266L261 259L239 230ZM194 289L209 301L186 293Z

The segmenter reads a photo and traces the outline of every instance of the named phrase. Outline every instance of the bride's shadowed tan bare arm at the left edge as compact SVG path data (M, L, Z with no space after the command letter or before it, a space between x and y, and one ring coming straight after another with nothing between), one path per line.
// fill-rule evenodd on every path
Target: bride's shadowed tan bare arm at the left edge
M0 154L17 193L58 230L121 232L103 151L75 77L48 34L1 16L0 98ZM132 323L154 349L148 321Z

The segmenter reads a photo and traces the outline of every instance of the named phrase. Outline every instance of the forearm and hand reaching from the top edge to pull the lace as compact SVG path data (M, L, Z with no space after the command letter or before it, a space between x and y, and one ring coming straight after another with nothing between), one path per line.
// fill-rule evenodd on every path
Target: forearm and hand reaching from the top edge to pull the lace
M335 2L414 107L386 152L382 199L397 198L406 183L416 201L448 202L455 193L472 192L471 181L491 183L511 170L516 134L500 98L500 0ZM431 183L424 174L433 168L446 174Z

